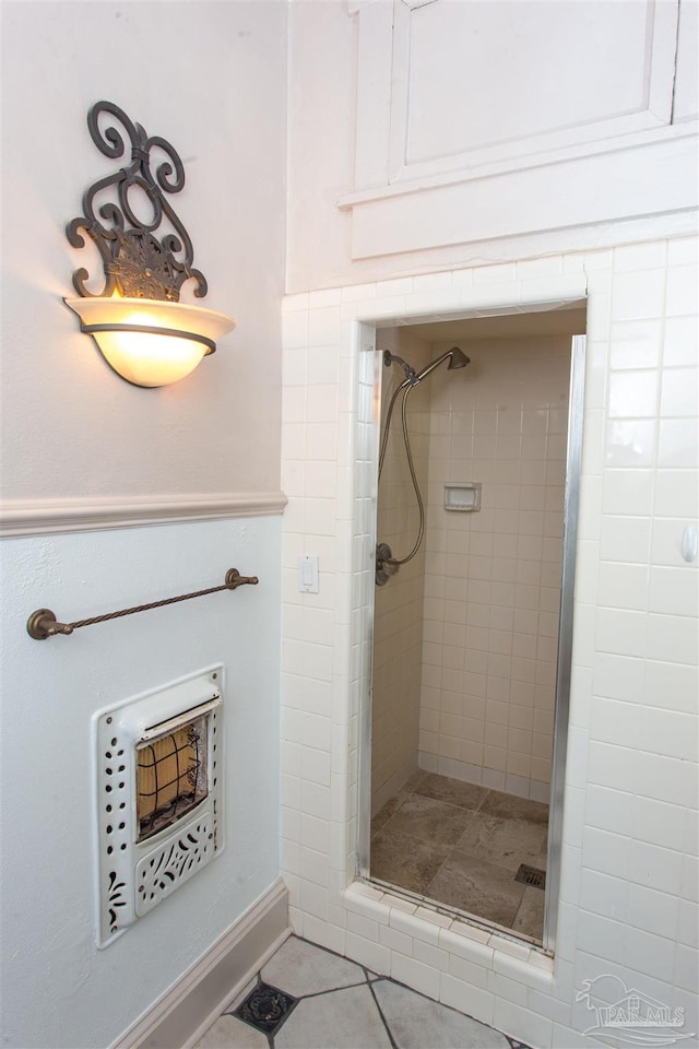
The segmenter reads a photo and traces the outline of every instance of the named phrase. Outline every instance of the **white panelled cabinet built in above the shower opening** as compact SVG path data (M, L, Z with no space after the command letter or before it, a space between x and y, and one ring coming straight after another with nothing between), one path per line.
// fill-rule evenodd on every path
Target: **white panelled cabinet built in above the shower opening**
M696 4L353 7L355 259L695 202Z

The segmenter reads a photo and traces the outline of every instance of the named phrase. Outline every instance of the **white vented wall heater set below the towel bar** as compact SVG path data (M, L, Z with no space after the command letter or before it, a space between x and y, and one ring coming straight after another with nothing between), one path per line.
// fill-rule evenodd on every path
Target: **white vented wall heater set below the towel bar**
M223 848L223 665L96 718L98 945Z

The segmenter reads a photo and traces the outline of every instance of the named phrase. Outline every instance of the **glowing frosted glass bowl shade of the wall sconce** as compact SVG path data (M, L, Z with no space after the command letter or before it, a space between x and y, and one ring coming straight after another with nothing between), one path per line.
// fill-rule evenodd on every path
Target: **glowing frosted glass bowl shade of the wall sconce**
M235 328L225 314L150 298L67 298L107 364L134 386L185 378Z

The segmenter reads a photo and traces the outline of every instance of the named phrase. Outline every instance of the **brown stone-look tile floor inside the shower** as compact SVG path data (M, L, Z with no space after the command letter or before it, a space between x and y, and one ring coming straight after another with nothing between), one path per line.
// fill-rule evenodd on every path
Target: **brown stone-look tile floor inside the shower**
M417 771L371 822L371 877L541 942L548 805Z

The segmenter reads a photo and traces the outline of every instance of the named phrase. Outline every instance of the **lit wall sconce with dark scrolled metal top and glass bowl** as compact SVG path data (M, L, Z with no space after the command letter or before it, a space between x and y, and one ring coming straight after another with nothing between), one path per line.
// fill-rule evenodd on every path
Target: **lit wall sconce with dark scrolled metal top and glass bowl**
M168 386L213 353L216 339L232 331L235 321L179 302L187 280L197 282L197 298L208 290L203 273L192 267L189 235L165 197L185 185L179 155L165 139L149 138L114 103L98 102L87 114L87 127L99 152L110 160L123 155L125 139L112 126L100 131L100 114L116 117L126 129L131 164L93 182L83 195L84 214L67 226L74 248L85 246L83 233L97 246L105 284L95 294L85 286L87 271L75 270L73 286L81 297L63 302L122 378L134 386ZM155 175L151 151L161 157Z

